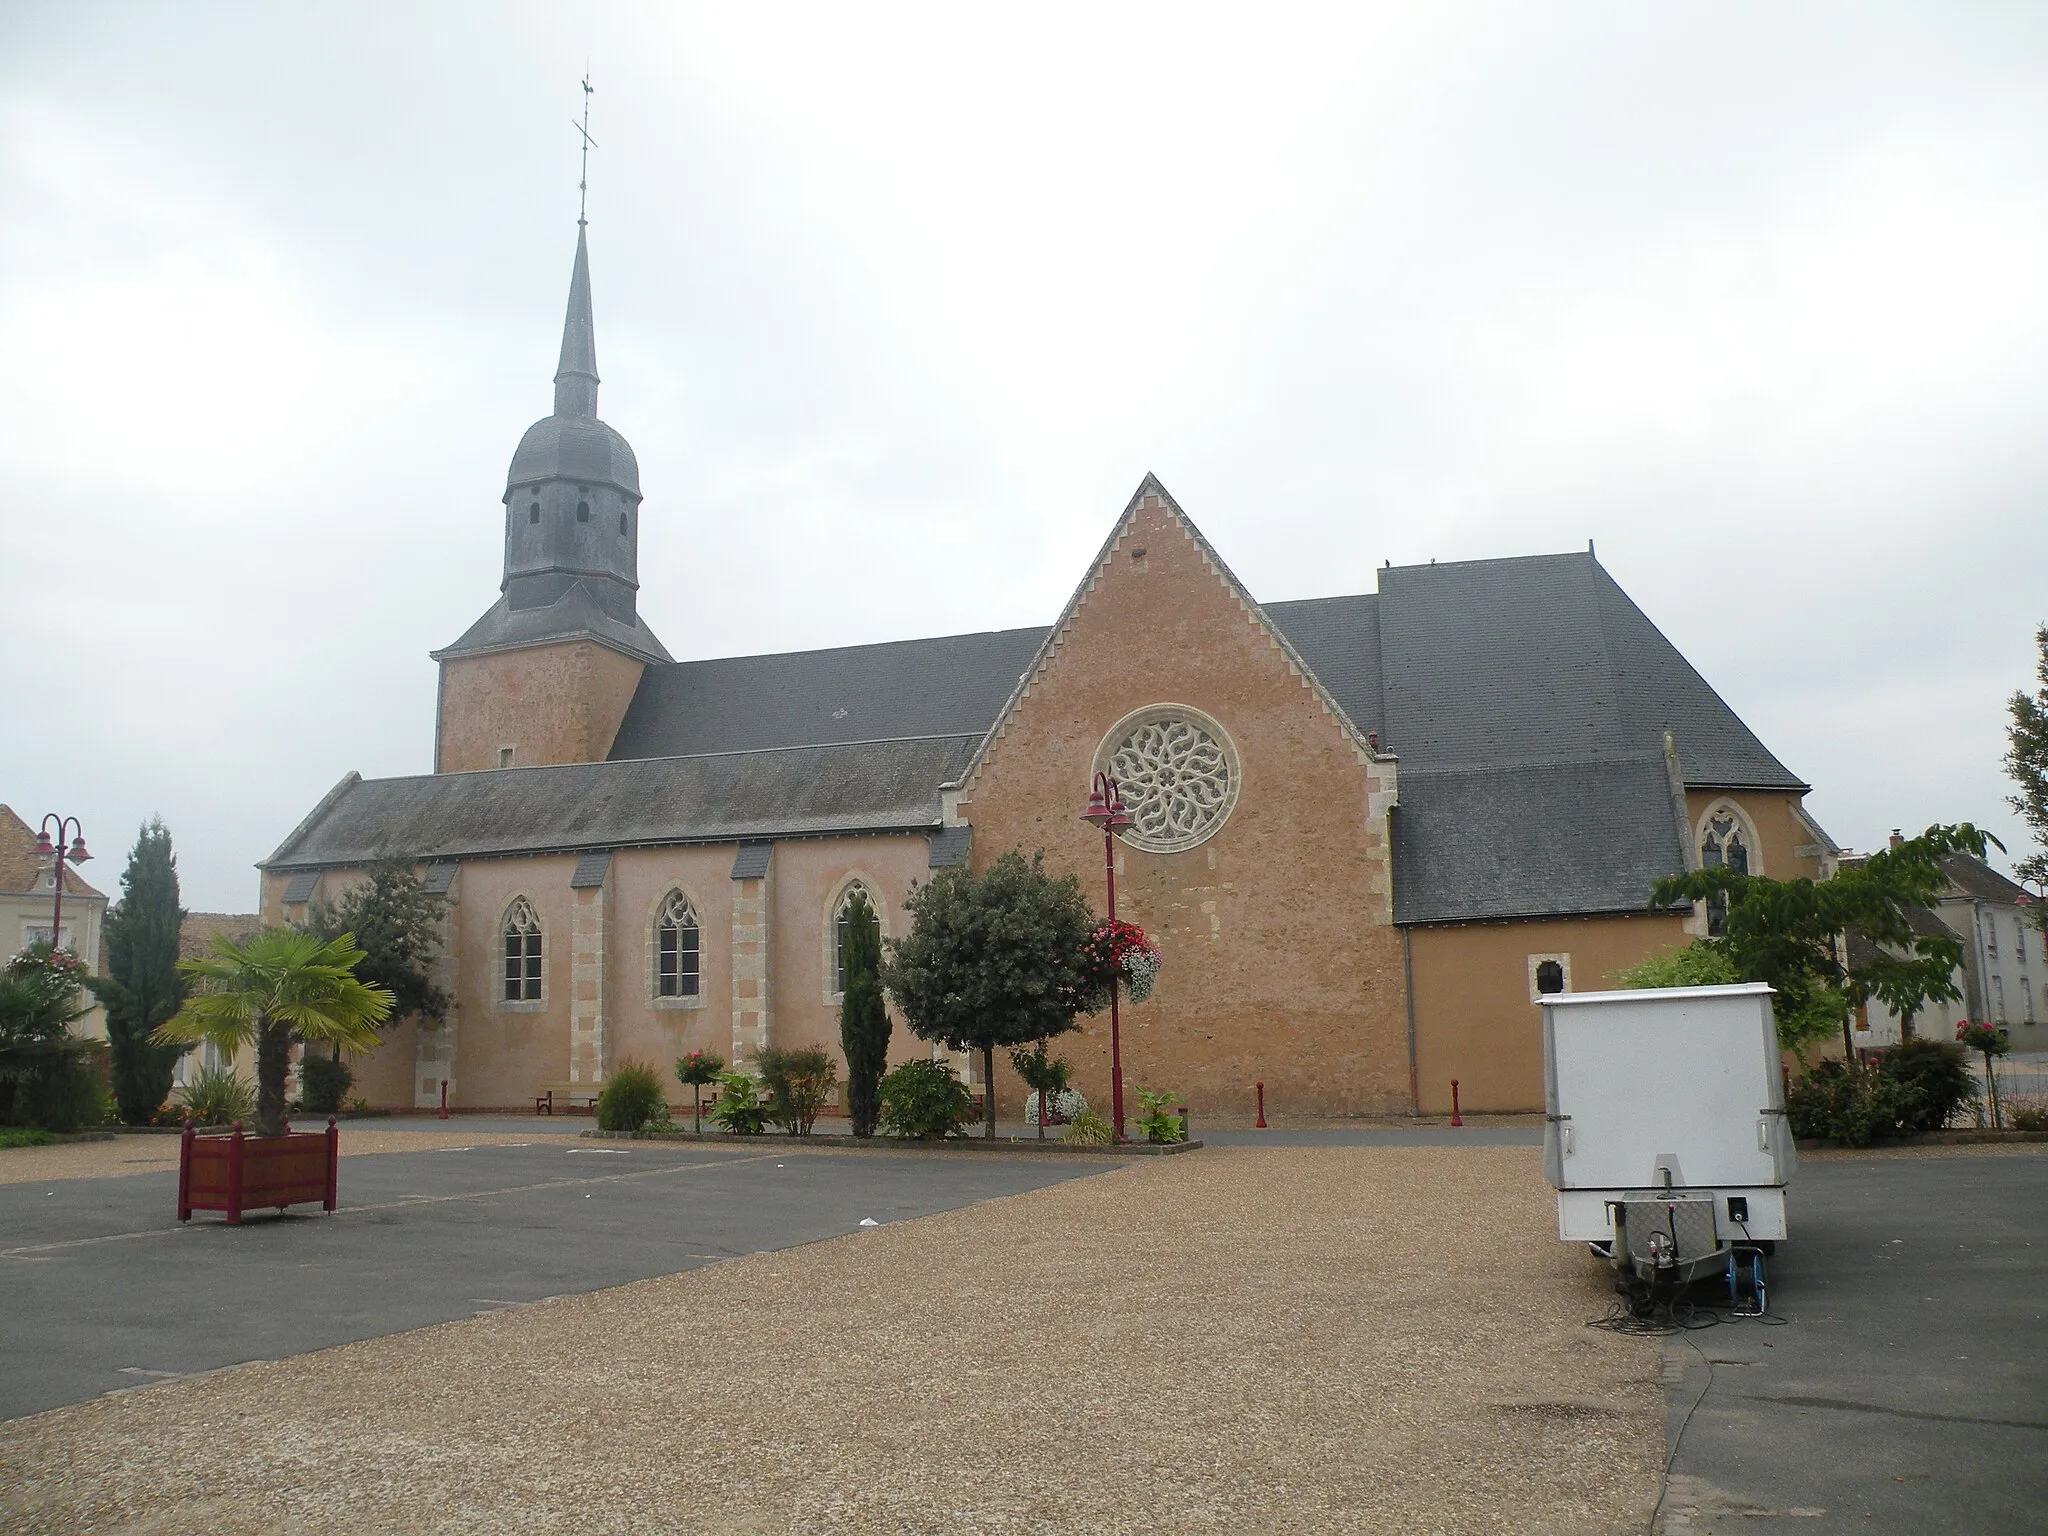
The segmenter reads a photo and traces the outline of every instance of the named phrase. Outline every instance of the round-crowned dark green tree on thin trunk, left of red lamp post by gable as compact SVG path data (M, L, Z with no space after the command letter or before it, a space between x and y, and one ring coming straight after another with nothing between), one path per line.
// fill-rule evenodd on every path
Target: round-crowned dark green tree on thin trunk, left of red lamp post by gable
M944 868L913 887L909 934L889 940L883 985L920 1040L979 1051L995 1139L995 1049L1073 1028L1100 991L1083 946L1096 928L1081 883L1044 852L1001 854L983 874Z

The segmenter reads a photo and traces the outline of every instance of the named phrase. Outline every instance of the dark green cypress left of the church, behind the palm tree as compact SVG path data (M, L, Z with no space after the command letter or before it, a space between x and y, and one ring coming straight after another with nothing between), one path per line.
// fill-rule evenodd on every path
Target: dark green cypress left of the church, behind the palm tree
M178 856L170 831L152 817L129 850L121 903L106 913L106 975L90 987L106 1008L115 1104L125 1124L150 1124L170 1098L170 1075L190 1047L156 1044L150 1032L184 1006L178 975Z

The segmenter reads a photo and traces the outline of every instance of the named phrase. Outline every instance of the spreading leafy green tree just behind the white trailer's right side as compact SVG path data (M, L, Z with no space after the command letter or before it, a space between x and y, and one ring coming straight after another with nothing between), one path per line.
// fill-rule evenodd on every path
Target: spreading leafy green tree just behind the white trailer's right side
M1995 842L1968 821L1927 827L1896 848L1851 864L1831 881L1769 881L1729 866L1671 874L1651 887L1651 905L1724 897L1729 918L1718 938L1694 948L1712 950L1743 981L1767 981L1778 991L1778 1038L1788 1051L1841 1030L1849 1061L1855 1036L1849 1016L1872 997L1901 1018L1927 1004L1960 997L1956 967L1962 942L1917 934L1909 907L1933 905L1948 887L1942 858L1966 852L1985 856ZM1855 928L1870 940L1862 958L1845 961L1841 936Z

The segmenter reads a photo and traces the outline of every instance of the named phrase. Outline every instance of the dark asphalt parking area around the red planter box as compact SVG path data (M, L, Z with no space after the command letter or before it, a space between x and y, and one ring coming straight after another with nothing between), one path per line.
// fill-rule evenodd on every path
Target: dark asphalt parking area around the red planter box
M176 1223L176 1176L0 1186L0 1419L692 1270L1108 1159L537 1139L342 1163L342 1210Z

